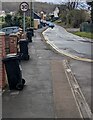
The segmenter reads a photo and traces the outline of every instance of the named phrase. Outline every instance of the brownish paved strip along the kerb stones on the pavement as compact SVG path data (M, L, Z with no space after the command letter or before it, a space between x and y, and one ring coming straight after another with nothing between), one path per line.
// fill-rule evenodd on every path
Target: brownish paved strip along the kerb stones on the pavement
M52 60L53 93L57 118L81 118L62 61Z

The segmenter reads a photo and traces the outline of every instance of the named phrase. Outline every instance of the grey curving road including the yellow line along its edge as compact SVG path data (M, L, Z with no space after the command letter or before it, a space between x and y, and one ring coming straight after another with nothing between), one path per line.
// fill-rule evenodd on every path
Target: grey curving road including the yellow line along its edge
M55 26L54 29L48 28L42 34L46 43L58 53L76 60L93 62L91 59L91 46L93 43L90 41L85 41L82 37L68 33L60 26Z

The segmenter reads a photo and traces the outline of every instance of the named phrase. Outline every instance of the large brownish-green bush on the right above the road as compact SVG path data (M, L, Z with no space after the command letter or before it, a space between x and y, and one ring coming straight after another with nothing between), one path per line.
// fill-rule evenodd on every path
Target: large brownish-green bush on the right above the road
M63 11L60 18L67 26L78 28L82 22L90 19L90 15L85 10L73 9Z

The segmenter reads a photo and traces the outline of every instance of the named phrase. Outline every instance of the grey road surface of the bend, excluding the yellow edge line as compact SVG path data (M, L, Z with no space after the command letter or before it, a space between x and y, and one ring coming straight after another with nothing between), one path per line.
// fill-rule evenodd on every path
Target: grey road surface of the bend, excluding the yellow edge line
M47 29L45 35L65 53L82 58L91 59L93 57L91 53L93 43L88 39L67 32L63 27L55 25L53 29Z

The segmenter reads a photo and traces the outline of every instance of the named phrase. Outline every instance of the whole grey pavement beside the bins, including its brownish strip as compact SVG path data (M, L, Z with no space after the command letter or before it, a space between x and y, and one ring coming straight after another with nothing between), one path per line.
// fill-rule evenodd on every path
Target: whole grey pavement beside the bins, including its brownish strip
M3 94L3 118L80 118L63 67L66 58L49 49L41 31L29 43L30 60L21 63L24 89Z

